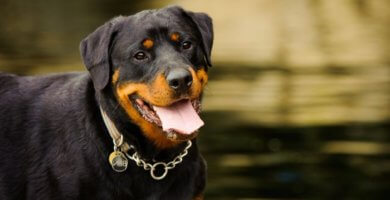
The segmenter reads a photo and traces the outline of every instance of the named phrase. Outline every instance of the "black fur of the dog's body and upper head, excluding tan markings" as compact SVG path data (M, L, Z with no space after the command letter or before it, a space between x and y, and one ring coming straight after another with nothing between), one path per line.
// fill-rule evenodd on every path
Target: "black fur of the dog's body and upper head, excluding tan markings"
M187 33L201 48L180 53L166 44L147 52L148 62L131 60L140 48L133 45L136 41L144 35L158 39L171 29ZM169 7L115 18L83 40L80 49L89 73L0 73L0 199L189 200L201 194L206 169L196 139L189 155L163 180L153 180L132 161L125 172L114 172L108 163L112 139L99 106L142 157L172 160L184 144L156 148L118 105L108 87L110 77L122 67L119 81L148 82L167 64L210 65L211 46L208 16Z

